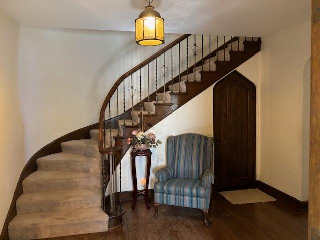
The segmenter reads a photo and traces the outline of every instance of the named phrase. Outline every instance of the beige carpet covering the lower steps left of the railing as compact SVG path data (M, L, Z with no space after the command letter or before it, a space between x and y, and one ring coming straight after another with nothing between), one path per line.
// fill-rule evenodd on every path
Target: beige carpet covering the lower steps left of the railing
M112 129L115 134L117 129ZM109 216L101 208L98 130L90 135L91 139L63 142L62 152L37 159L38 170L22 182L17 215L9 224L10 240L108 230Z

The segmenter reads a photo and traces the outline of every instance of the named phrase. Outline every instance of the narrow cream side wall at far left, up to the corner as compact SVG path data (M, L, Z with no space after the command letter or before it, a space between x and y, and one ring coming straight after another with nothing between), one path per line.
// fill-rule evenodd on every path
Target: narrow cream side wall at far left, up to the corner
M20 26L0 10L0 229L24 167L17 63Z

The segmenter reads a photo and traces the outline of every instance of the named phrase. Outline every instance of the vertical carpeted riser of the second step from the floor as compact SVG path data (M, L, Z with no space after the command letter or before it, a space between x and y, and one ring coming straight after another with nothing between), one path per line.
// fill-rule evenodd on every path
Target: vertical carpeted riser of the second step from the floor
M41 212L52 212L52 211L64 211L79 208L99 207L101 206L101 195L96 194L95 196L87 196L82 200L57 200L50 202L16 202L17 215L21 214L33 214Z

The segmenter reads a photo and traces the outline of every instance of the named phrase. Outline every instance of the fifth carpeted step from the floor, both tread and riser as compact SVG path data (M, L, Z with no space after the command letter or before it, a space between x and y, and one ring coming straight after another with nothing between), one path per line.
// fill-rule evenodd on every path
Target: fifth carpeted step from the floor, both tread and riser
M92 139L65 141L61 143L63 152L100 158L98 142Z

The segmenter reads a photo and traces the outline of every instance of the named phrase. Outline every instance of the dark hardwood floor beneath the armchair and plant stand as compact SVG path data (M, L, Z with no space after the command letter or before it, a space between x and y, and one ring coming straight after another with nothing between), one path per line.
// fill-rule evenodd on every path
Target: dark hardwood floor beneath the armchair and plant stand
M233 205L213 192L209 211L210 226L205 227L198 209L159 206L159 217L145 202L124 202L126 209L121 228L105 233L50 238L50 240L106 239L307 239L308 212L298 211L280 201ZM46 239L48 240L48 239Z

